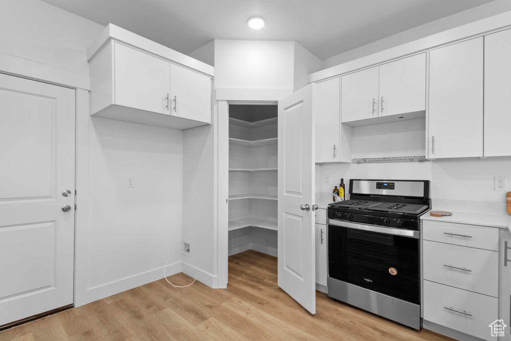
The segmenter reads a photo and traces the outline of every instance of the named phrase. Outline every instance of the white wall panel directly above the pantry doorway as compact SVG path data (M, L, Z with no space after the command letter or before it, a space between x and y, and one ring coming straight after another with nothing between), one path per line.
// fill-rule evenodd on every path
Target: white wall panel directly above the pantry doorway
M294 42L215 39L215 87L294 86Z

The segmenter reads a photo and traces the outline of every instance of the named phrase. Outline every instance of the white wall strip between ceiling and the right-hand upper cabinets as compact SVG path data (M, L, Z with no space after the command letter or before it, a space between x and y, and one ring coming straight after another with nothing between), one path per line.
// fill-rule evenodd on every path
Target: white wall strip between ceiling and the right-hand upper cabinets
M411 42L413 40L421 39L507 11L511 11L511 2L509 0L495 0L491 3L477 6L463 12L455 13L444 18L428 22L427 24L414 27L412 29L371 42L359 48L324 59L322 61L321 69L328 69L332 66L397 47L401 44Z

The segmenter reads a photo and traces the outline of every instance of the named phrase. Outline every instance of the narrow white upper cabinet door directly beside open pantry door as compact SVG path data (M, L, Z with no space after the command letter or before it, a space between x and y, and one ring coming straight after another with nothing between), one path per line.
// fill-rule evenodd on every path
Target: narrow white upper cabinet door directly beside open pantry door
M316 83L316 162L339 161L339 77Z

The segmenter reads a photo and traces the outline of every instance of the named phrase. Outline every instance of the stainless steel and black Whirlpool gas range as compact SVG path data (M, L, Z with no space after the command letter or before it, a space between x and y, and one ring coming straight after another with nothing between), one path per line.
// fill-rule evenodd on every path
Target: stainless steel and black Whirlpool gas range
M429 180L350 180L328 206L329 296L421 328L420 216Z

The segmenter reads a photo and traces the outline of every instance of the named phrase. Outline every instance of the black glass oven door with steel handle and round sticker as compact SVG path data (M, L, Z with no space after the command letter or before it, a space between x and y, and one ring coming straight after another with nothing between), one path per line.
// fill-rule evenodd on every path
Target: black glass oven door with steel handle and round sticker
M329 276L420 303L419 231L329 219Z

